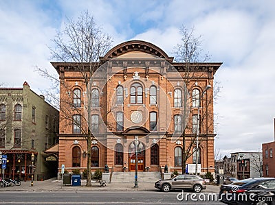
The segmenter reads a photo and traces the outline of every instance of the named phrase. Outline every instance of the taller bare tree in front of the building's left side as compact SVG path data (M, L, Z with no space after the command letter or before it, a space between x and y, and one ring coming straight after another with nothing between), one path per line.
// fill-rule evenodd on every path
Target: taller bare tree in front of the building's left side
M90 77L94 74L96 69L100 66L100 57L104 56L111 47L111 37L102 32L102 29L96 24L93 16L89 12L80 14L78 21L67 19L67 25L63 31L58 32L53 40L55 47L51 48L52 57L58 62L67 62L70 71L77 72L86 87L88 101L91 101L91 84L89 84ZM62 92L71 92L72 88L65 80L58 81L58 78L51 75L45 69L36 68L41 75L50 78L52 82L60 83L60 90ZM58 99L56 92L52 93L52 101L56 102ZM89 129L91 125L91 103L85 104L84 109L80 110L74 104L73 95L69 98L62 98L59 101L61 121L65 121L72 125L74 123L80 128L82 135L87 141L87 184L91 186L91 141L93 134ZM87 112L87 118L85 118ZM79 119L73 119L73 114L80 115Z

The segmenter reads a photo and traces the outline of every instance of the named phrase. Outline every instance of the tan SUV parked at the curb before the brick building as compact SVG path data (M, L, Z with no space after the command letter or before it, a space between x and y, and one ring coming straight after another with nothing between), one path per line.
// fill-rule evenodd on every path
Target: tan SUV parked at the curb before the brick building
M182 174L169 180L155 182L155 188L168 192L175 189L191 189L197 193L206 189L206 181L195 175Z

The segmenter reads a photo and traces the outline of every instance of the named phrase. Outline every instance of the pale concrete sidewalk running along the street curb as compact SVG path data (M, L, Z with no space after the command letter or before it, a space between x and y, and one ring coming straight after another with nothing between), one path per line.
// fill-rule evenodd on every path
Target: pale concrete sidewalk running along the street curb
M0 191L158 191L155 189L153 182L138 182L138 188L133 188L134 182L111 182L106 186L100 186L98 182L92 182L91 187L86 187L86 181L82 180L81 186L63 186L61 180L45 180L34 181L34 186L30 186L31 182L21 182L21 186L0 187ZM219 193L219 186L207 185L206 193Z

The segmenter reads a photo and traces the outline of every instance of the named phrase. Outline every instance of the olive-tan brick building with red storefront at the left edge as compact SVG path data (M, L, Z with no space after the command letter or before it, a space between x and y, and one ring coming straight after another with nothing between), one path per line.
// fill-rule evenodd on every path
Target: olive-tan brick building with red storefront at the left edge
M58 141L57 134L58 110L27 82L23 88L0 88L0 151L8 155L6 177L30 180L32 173L34 180L52 177L57 161L46 162L43 151Z

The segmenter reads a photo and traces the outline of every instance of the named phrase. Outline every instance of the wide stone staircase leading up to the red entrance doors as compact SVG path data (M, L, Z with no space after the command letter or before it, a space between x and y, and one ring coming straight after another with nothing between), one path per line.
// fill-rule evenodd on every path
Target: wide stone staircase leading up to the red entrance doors
M151 171L137 172L137 180L138 182L156 182L160 180L162 177L160 176L159 171ZM128 172L113 172L113 176L111 178L111 182L135 182L135 171Z

